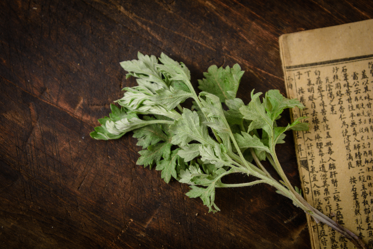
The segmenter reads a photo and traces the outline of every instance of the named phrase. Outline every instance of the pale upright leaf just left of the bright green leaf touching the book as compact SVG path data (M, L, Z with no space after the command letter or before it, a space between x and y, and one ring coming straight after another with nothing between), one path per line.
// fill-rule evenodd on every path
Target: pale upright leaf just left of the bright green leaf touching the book
M261 93L253 94L254 90L251 91L251 101L247 106L241 106L239 111L245 119L251 120L248 127L248 131L253 129L263 129L268 134L272 133L273 121L269 118L264 108L264 103L261 103L259 96Z

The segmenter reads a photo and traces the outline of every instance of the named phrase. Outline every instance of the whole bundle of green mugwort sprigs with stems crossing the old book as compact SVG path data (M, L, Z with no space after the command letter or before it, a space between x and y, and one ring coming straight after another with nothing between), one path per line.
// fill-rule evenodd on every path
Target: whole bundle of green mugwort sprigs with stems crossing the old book
M176 62L164 53L160 58L138 53L138 60L120 65L128 71L126 78L136 77L137 86L125 87L124 96L112 104L109 117L98 119L101 126L90 135L95 139L116 139L129 131L138 139L137 164L156 166L166 183L171 178L190 185L187 196L200 197L209 211L219 211L214 203L215 190L221 187L244 187L269 184L276 192L288 197L295 206L339 231L358 248L367 246L347 230L308 204L301 191L286 177L278 157L276 144L284 143L285 131L308 130L305 117L286 127L276 120L286 108L304 108L296 99L288 99L278 91L264 94L251 92L245 105L236 98L244 71L238 64L232 68L213 65L198 80L197 95L184 63ZM192 99L192 108L181 103ZM223 108L222 103L227 108ZM275 180L261 164L268 160L280 176ZM233 173L254 176L247 183L223 183L222 178Z

